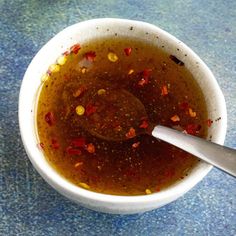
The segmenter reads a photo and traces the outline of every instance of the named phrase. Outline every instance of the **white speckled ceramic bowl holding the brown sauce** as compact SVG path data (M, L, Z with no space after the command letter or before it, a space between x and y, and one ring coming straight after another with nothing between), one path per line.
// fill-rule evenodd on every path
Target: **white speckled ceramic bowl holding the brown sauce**
M107 30L109 29L109 31ZM148 33L148 34L147 34ZM226 134L226 106L223 94L208 67L184 43L160 28L138 21L123 19L94 19L72 25L46 43L30 63L21 85L19 124L25 150L40 175L58 192L85 207L109 213L131 214L145 212L170 203L197 184L212 168L199 162L188 177L158 193L143 196L114 196L77 187L60 176L37 148L35 108L42 75L49 65L70 46L104 36L139 38L152 43L184 62L200 85L212 119L221 117L209 129L212 141L223 144ZM49 199L50 201L50 199Z

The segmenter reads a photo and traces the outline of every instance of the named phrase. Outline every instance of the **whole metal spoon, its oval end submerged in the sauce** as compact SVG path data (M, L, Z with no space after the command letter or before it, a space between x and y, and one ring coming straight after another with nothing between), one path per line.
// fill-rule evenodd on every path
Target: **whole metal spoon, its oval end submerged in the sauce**
M107 89L105 94L99 95L96 88L90 91L88 98L91 104L96 105L96 112L84 116L80 122L95 137L124 141L132 135L148 133L236 176L236 150L161 125L149 124L148 129L140 128L140 120L147 118L145 107L127 90ZM130 127L135 133L127 136Z

